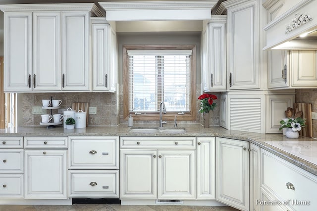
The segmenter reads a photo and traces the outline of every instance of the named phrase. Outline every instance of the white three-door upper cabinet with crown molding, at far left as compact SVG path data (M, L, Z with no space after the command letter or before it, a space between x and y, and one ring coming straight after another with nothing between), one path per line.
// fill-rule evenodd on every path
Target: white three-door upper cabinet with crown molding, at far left
M1 5L4 91L90 91L93 3Z

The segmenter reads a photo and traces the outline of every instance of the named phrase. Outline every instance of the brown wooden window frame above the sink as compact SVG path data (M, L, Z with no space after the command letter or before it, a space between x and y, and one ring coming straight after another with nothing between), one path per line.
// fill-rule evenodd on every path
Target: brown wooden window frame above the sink
M178 115L178 112L168 112L163 120L172 121L177 115L179 121L196 121L196 46L195 45L123 45L123 120L131 115L135 121L158 121L159 112L147 112L147 115L136 115L129 112L129 56L128 50L192 50L191 55L191 97L190 112ZM125 97L128 96L128 97ZM182 112L182 111L180 111Z

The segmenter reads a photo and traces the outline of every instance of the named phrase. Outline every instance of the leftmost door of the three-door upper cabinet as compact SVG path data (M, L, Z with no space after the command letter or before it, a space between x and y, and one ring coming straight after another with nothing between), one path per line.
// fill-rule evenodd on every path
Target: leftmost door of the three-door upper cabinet
M32 12L6 12L4 28L4 91L30 91Z

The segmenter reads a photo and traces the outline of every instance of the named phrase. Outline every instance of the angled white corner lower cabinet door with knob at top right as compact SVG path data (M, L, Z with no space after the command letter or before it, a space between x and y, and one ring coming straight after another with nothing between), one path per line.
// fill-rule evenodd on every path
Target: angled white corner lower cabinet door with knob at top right
M249 210L249 153L247 141L216 138L216 199Z

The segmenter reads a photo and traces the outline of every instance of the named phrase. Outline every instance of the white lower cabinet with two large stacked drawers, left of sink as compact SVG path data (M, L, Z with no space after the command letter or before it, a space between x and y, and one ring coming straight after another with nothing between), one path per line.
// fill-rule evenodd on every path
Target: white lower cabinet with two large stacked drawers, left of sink
M68 196L118 198L118 136L69 136L68 141Z

